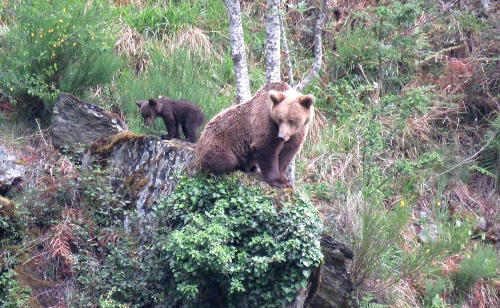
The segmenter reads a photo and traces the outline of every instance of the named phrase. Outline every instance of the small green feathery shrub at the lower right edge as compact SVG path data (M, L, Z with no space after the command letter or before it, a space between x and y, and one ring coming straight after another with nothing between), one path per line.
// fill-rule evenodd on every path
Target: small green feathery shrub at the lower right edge
M497 276L498 256L496 251L487 246L478 246L460 262L458 271L453 275L455 292L459 296L465 294L478 279Z

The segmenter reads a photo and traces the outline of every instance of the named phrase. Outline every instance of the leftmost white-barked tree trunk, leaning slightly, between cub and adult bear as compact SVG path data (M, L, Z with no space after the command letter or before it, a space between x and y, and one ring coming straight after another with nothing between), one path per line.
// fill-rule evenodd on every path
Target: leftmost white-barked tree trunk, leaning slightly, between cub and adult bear
M243 24L239 0L224 0L228 8L229 38L231 41L231 58L234 64L236 79L236 100L238 103L252 98L248 67L246 59L245 41L243 40Z

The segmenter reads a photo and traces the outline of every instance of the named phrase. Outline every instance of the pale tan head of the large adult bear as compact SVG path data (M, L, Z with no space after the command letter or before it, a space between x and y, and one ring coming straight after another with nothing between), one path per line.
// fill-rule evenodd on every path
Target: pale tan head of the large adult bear
M285 92L269 91L271 118L279 126L277 137L288 141L314 117L314 96L303 95L293 89Z

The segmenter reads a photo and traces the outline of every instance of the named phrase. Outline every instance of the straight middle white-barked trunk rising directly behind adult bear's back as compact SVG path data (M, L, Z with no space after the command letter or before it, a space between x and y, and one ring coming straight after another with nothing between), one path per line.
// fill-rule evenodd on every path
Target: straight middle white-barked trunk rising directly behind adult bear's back
M268 83L281 81L279 46L279 0L266 0L266 78Z

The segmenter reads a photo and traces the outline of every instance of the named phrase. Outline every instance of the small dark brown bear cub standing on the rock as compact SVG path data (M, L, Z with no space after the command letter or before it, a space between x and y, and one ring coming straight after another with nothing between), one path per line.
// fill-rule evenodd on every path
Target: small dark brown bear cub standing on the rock
M144 124L149 126L161 117L167 127L167 139L179 138L179 125L189 142L196 142L198 127L205 121L205 115L194 103L187 100L173 100L166 97L150 98L137 102Z

